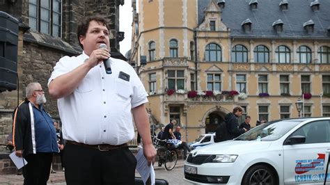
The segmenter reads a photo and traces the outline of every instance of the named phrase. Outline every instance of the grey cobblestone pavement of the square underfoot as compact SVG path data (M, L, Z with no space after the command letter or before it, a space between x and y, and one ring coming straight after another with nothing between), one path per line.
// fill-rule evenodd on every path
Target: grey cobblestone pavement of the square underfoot
M156 178L166 179L168 184L188 184L183 180L183 164L182 159L178 160L177 165L171 171L165 170L164 166L158 167L157 163L154 164ZM139 173L136 172L136 177L139 177ZM0 175L0 184L10 184L10 185L22 185L23 175ZM49 181L47 184L57 184L65 185L65 177L63 171L56 171L56 173L51 173Z

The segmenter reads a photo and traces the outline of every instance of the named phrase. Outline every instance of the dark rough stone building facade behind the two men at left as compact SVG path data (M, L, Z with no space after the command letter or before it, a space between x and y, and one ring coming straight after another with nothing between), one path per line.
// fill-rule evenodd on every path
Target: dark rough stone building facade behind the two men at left
M0 93L0 144L7 143L13 110L24 99L28 83L41 84L47 97L47 111L55 120L59 119L56 100L48 94L47 81L59 58L81 53L76 34L79 19L94 13L104 15L111 29L111 55L122 56L119 42L124 33L119 32L119 6L123 4L124 0L0 1L0 11L19 20L18 89Z

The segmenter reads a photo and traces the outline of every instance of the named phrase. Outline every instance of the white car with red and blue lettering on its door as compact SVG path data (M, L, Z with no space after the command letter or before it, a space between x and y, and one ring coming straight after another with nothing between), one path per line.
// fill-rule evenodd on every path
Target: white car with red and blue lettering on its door
M192 184L323 184L329 152L330 118L277 120L191 151L184 179Z

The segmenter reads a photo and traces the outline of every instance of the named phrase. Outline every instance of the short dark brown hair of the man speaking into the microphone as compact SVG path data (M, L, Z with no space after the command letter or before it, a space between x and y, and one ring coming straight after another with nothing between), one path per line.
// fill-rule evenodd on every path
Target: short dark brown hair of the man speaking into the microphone
M84 49L84 46L81 45L79 38L81 35L84 37L86 36L87 30L89 27L89 23L91 21L96 21L98 23L102 23L102 24L104 24L104 26L107 26L108 30L110 30L107 19L105 19L102 15L90 15L90 16L84 17L84 19L81 19L81 21L78 24L78 28L77 28L77 38L78 38L79 45L82 49Z

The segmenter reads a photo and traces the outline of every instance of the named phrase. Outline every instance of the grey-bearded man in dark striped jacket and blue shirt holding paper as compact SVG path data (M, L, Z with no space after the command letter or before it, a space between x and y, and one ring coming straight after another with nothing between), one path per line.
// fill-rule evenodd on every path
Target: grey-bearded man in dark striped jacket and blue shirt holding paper
M47 184L54 152L59 152L56 129L45 111L45 93L40 83L26 86L26 99L15 111L13 145L16 156L28 162L23 167L24 184Z

